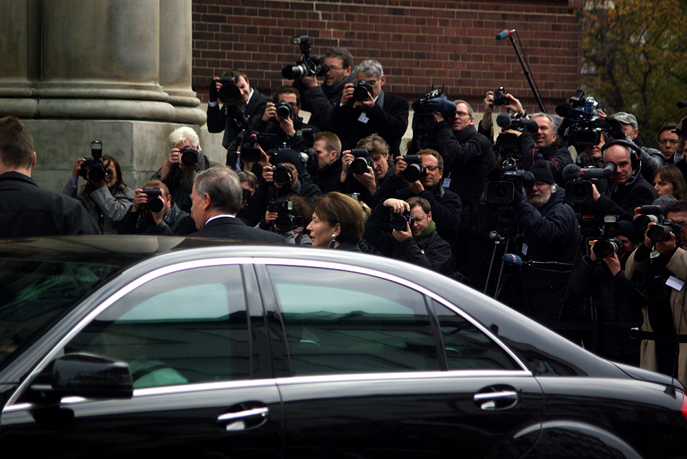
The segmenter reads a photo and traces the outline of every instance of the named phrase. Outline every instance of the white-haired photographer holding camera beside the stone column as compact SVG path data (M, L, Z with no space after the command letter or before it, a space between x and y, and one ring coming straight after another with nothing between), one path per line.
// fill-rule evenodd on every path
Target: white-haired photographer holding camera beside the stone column
M198 134L188 126L170 132L167 143L170 148L167 161L150 178L161 180L169 189L172 201L182 211L189 212L196 173L210 167L210 161L201 152Z

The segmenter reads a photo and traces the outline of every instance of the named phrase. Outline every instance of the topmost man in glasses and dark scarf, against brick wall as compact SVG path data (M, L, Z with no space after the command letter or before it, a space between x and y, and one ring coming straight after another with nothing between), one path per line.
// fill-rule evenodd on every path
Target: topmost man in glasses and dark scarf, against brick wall
M315 76L302 76L293 82L293 87L300 92L303 110L311 113L308 123L319 130L328 130L334 109L341 100L343 86L355 82L355 74L351 73L353 56L348 49L328 49L324 54L324 64L328 71L322 84L317 84Z

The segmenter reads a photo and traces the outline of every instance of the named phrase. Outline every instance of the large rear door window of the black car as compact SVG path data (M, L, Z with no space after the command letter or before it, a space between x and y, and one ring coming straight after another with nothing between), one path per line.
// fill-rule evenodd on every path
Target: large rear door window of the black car
M425 299L374 276L268 266L294 375L438 370Z

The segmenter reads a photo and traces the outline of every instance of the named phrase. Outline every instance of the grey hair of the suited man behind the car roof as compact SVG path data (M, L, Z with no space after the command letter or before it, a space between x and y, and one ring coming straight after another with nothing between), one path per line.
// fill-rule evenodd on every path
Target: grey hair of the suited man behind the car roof
M227 166L210 167L196 176L196 193L210 196L215 210L236 215L243 202L243 187L238 174Z

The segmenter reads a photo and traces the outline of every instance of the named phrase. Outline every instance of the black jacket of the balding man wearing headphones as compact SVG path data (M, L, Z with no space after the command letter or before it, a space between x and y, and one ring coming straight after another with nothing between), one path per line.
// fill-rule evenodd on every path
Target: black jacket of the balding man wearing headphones
M618 215L620 220L631 222L635 207L651 204L658 198L656 190L639 175L632 176L620 188L608 182L607 194L601 195L592 206L596 215Z

